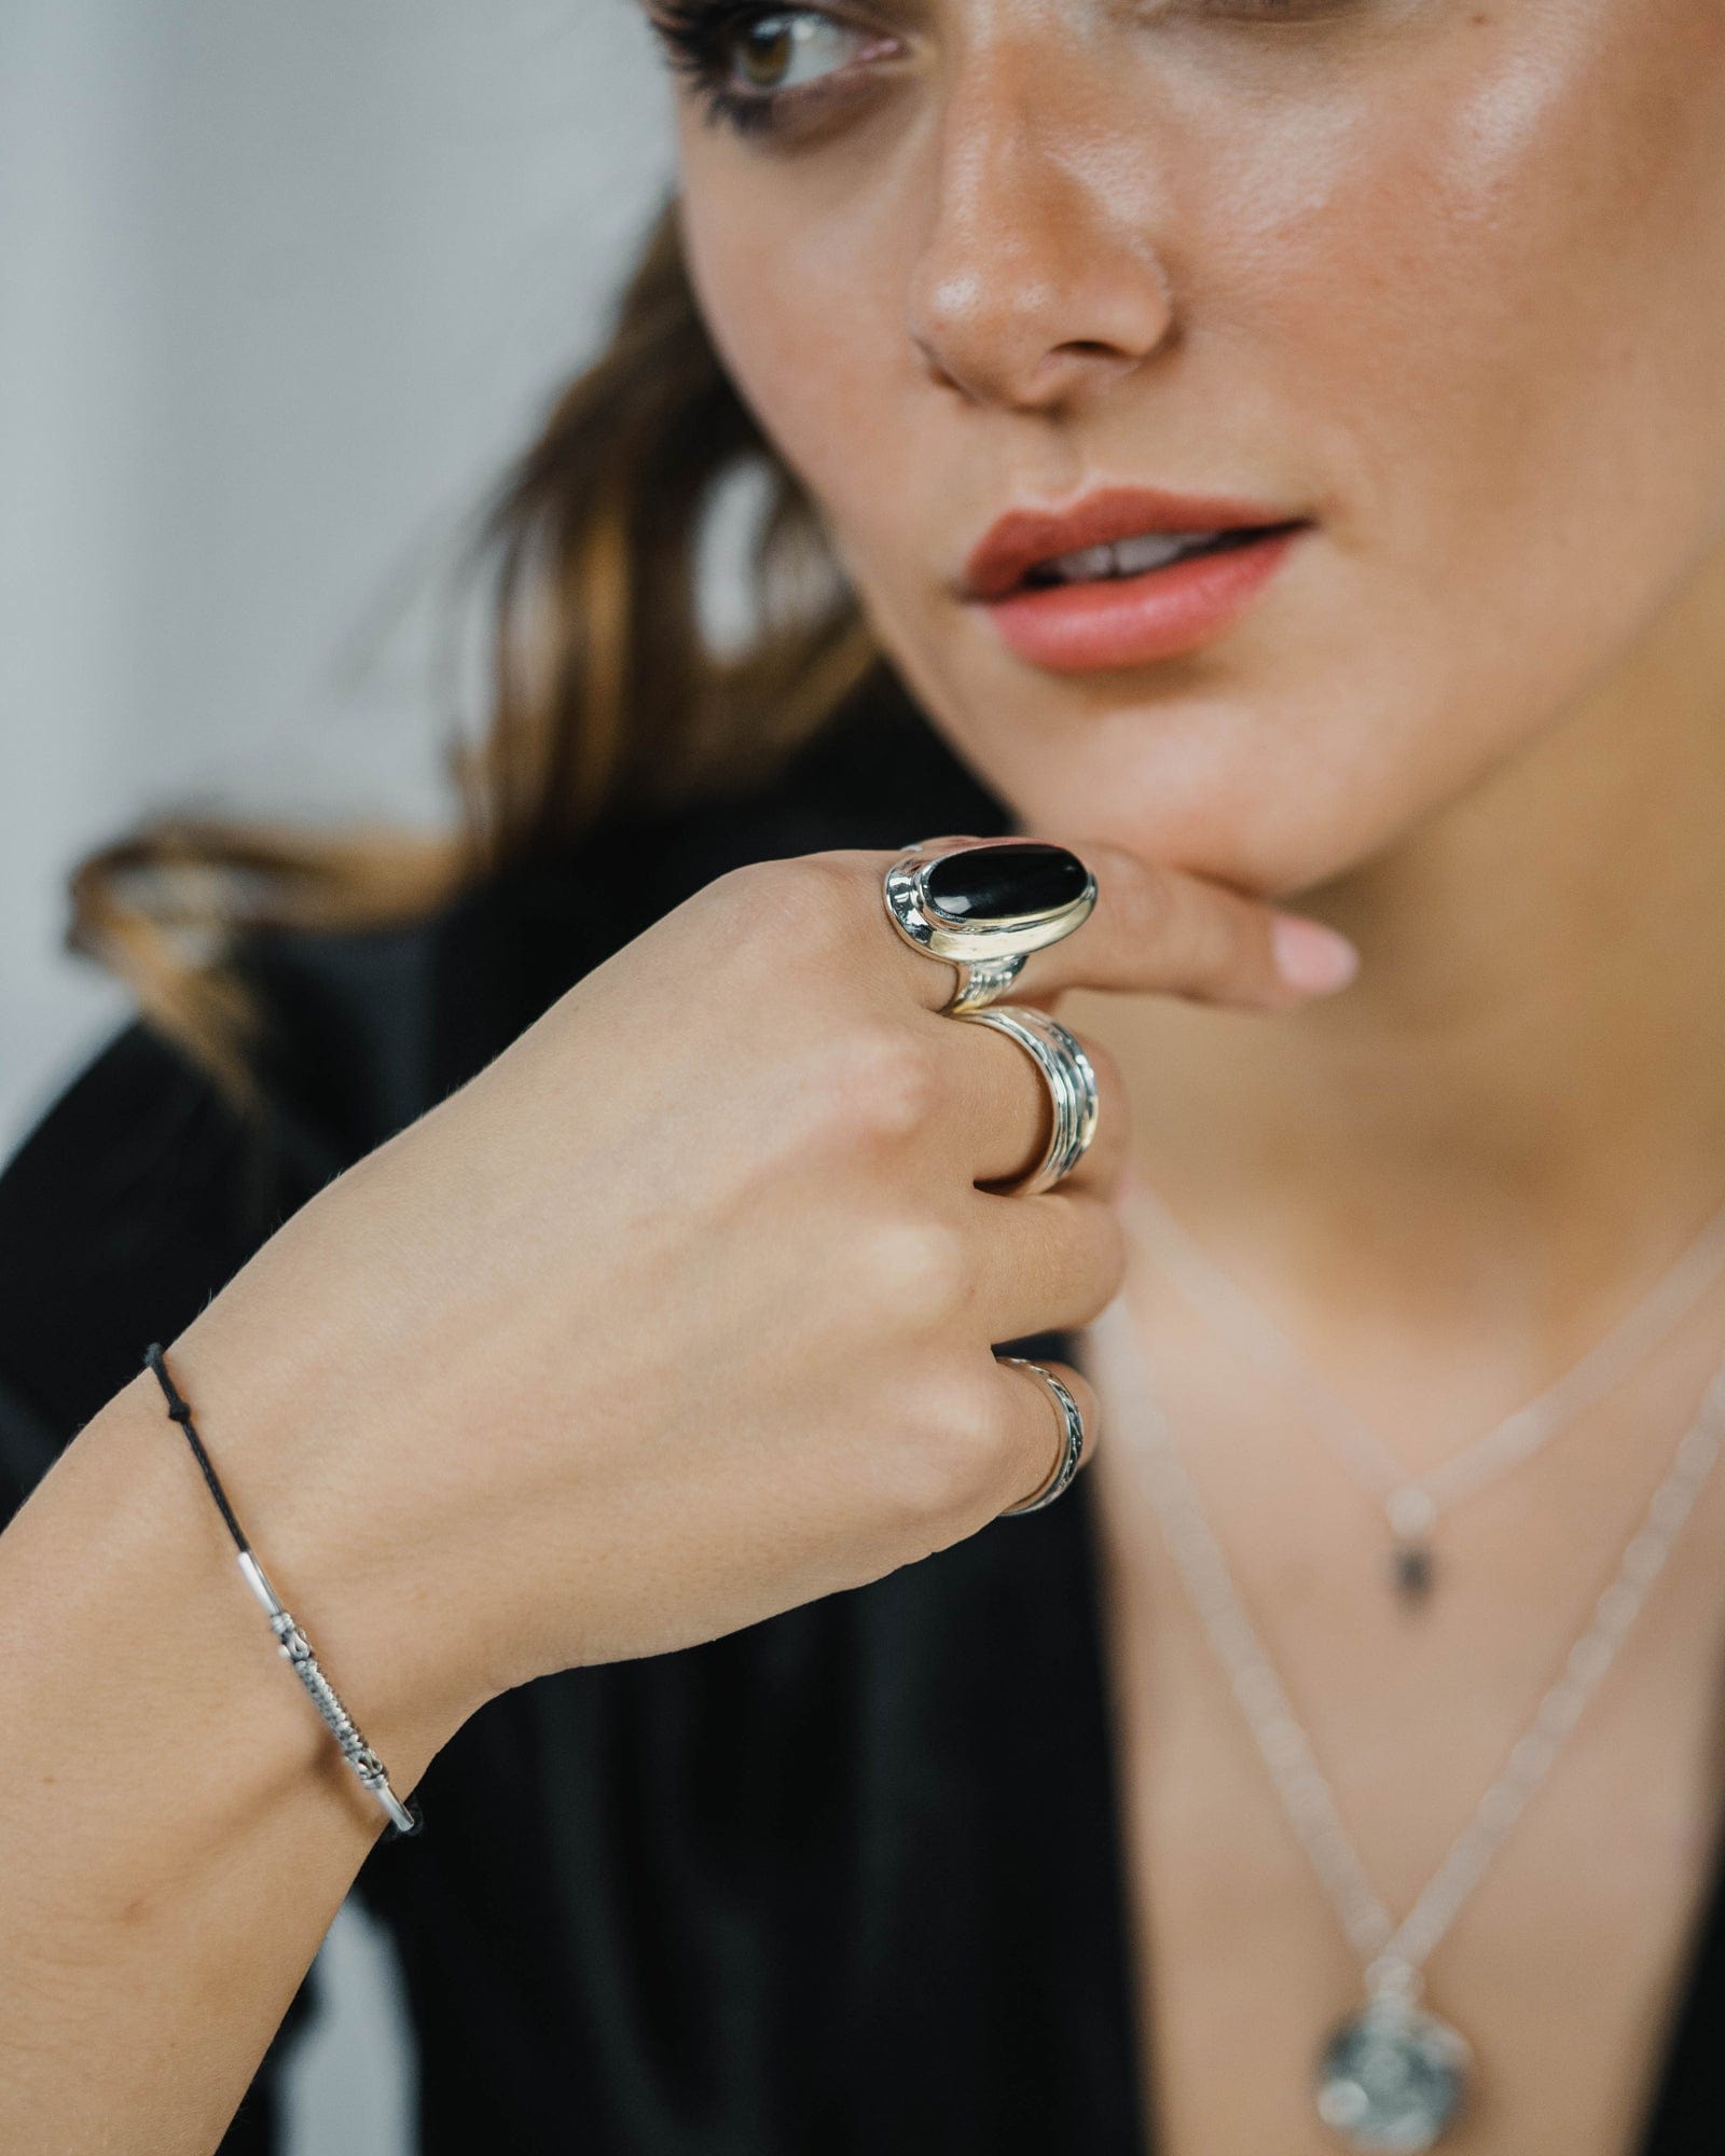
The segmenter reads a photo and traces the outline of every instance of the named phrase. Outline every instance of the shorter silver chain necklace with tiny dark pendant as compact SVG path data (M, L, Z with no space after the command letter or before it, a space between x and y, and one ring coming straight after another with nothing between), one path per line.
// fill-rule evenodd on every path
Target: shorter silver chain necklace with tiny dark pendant
M1389 1576L1404 1602L1423 1600L1436 1580L1438 1518L1464 1496L1531 1460L1561 1429L1619 1384L1669 1339L1725 1272L1725 1205L1634 1309L1535 1399L1425 1475L1408 1475L1384 1438L1339 1399L1294 1343L1236 1287L1197 1238L1143 1181L1128 1179L1121 1207L1134 1240L1149 1248L1192 1307L1259 1369L1287 1386L1305 1419L1343 1473L1384 1509L1391 1533Z

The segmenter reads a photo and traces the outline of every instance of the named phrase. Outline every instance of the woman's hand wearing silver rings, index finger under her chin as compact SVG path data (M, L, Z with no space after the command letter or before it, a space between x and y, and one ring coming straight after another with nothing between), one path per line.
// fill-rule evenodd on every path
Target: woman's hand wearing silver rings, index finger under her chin
M1276 968L1285 916L1074 849L1095 912L1007 1000L1307 1000ZM1126 1097L1091 1048L1100 1125L1074 1175L979 1188L1039 1158L1046 1087L940 1013L953 968L893 934L886 867L722 875L326 1186L168 1343L362 1723L367 1697L436 1699L453 1731L546 1671L878 1578L1048 1479L1054 1406L992 1348L1113 1300ZM1095 1399L1061 1376L1093 1445Z

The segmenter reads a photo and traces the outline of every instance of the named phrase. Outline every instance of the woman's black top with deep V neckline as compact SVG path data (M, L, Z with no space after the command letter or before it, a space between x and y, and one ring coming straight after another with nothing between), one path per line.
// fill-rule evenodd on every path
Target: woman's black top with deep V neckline
M427 923L254 931L263 1141L134 1020L0 1175L0 1522L289 1212L688 893L1007 828L895 701L742 804L615 819ZM507 1692L418 1794L425 1835L354 1891L401 1955L433 2156L1145 2156L1085 1477L871 1587ZM229 2156L278 2147L313 1986ZM1725 2143L1723 2035L1725 1865L1643 2156Z

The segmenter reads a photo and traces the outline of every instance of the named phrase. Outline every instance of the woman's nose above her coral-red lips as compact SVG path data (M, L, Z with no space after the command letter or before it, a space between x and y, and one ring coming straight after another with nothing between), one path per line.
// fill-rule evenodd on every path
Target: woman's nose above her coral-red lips
M953 67L906 328L972 403L1048 410L1141 367L1173 334L1158 250L1154 116L1113 132L1089 82L1050 75L1048 39ZM1067 56L1070 58L1070 56Z

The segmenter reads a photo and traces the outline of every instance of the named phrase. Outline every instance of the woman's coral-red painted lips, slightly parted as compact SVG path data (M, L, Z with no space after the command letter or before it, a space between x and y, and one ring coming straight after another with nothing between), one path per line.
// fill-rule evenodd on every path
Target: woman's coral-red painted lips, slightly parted
M1261 502L1108 487L1063 511L1009 511L972 548L960 597L985 606L1005 645L1050 673L1145 666L1227 627L1309 528ZM1190 535L1195 550L1134 569L1134 556L1162 552L1149 535ZM1095 552L1119 541L1143 543Z

